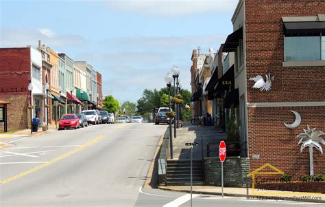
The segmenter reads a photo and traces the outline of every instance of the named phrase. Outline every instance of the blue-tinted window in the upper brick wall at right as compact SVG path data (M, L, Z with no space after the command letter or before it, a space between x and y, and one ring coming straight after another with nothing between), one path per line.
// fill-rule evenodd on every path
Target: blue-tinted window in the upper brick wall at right
M285 36L285 61L325 60L325 40L320 33L287 34Z

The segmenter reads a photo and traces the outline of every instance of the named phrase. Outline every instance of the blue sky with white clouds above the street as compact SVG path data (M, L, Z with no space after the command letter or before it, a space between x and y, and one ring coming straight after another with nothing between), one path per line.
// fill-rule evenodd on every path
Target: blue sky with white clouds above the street
M238 0L0 0L0 47L38 40L102 74L104 95L136 102L165 87L173 65L191 89L191 54L217 51Z

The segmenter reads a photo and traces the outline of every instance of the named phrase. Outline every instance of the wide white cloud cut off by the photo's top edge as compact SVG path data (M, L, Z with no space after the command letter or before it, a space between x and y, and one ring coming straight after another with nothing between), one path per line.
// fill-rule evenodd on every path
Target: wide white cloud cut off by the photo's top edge
M154 17L179 17L191 14L231 12L234 11L238 0L108 0L100 2L110 10Z

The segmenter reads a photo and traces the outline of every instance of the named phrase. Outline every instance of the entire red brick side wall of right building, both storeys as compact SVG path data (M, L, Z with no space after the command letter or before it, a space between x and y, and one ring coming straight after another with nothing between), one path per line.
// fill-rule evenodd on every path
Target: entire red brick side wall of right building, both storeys
M247 78L267 72L274 75L272 91L252 89L248 80L248 102L310 102L325 101L325 67L282 67L284 36L281 17L309 17L324 14L325 1L245 1L246 69ZM302 123L287 129L296 110ZM269 107L248 108L249 155L251 169L269 162L295 176L309 174L309 149L300 153L296 135L310 127L325 131L325 107ZM323 136L324 137L324 136ZM325 146L323 145L323 149ZM325 173L325 155L314 150L315 173Z

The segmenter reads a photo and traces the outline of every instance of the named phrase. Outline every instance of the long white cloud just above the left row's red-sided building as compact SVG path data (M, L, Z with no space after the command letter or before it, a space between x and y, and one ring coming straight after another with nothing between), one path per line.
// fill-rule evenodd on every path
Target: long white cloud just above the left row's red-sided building
M75 47L86 45L86 40L76 34L56 34L49 28L39 30L0 29L1 47L25 47L37 45L38 40L51 47Z

